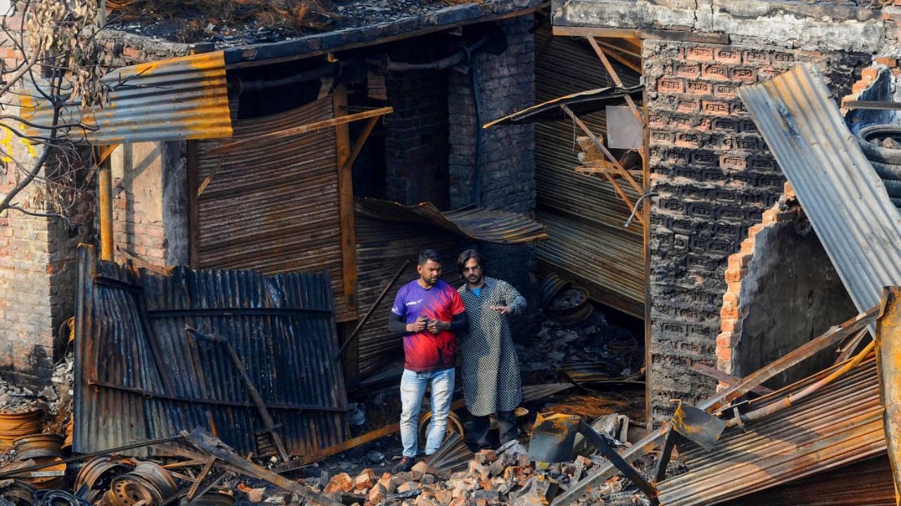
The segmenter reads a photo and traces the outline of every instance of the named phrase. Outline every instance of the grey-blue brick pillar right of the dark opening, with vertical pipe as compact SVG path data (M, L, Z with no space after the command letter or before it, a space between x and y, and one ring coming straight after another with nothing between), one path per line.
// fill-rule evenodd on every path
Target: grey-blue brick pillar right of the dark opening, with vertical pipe
M529 212L535 208L535 160L532 125L477 129L534 104L535 61L532 16L499 22L507 48L500 55L476 55L471 72L478 81L479 113L472 77L450 76L451 207L475 200L476 142L480 200L496 209Z

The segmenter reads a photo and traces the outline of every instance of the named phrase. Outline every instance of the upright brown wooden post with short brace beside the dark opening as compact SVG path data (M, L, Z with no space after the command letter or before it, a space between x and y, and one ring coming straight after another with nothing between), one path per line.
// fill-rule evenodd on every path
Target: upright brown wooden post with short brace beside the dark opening
M334 116L340 118L347 108L347 90L344 86L335 86L334 89ZM369 131L378 121L379 116L369 120ZM365 138L363 139L365 140ZM353 216L353 158L359 154L362 144L358 142L354 146L354 153L350 152L350 130L347 123L335 125L335 148L338 152L338 208L341 216L341 279L344 287L344 303L350 311L357 309L357 232Z

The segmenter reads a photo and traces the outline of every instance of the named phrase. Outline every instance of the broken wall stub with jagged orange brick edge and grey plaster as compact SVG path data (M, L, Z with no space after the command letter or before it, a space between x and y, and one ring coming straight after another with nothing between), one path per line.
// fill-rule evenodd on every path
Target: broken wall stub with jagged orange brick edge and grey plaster
M791 185L729 257L716 367L743 377L857 314ZM833 349L773 379L776 387L835 361ZM721 385L724 386L724 385Z

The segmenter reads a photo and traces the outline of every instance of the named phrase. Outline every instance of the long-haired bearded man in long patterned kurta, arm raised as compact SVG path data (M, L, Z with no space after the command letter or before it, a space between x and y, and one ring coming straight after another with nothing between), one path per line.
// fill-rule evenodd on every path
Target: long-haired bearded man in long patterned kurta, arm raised
M463 398L473 415L467 434L478 447L490 447L491 413L496 413L501 444L516 438L514 410L523 400L507 315L523 312L525 299L509 283L486 277L484 264L475 249L463 251L457 261L466 280L459 292L469 320L469 332L460 343L460 375Z

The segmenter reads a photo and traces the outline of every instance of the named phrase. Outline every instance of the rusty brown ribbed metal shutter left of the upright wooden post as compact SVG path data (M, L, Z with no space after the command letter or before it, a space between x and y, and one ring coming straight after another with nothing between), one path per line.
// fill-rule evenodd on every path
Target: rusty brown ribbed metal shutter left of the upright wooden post
M234 140L252 139L333 117L332 97L293 111L235 122ZM262 140L217 155L221 143L196 142L196 267L263 274L319 271L332 276L335 317L356 318L344 301L335 129Z

